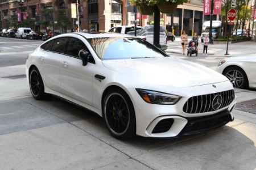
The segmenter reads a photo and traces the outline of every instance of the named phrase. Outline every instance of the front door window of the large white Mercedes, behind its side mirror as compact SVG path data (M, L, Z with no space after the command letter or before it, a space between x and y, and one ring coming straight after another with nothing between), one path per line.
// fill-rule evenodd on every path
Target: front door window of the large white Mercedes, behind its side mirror
M78 54L81 49L84 49L86 50L86 52L89 52L84 42L76 38L69 39L66 49L67 51L65 52L65 54L76 57L76 58L79 58Z

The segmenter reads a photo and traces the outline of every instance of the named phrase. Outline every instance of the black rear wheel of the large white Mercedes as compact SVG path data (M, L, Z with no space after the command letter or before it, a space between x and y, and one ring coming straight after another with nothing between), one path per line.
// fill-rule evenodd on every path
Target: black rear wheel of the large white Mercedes
M36 100L42 100L46 97L46 93L44 93L44 83L42 76L40 75L38 69L34 67L30 71L30 77L29 77L29 84L30 84L30 91L32 96Z

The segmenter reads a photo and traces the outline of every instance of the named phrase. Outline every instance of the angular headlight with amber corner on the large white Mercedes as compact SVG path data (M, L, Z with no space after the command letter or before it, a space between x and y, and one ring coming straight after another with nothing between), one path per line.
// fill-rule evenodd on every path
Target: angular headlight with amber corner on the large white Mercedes
M176 104L177 101L179 101L181 98L181 96L165 94L158 91L150 91L138 88L136 90L144 101L152 104Z

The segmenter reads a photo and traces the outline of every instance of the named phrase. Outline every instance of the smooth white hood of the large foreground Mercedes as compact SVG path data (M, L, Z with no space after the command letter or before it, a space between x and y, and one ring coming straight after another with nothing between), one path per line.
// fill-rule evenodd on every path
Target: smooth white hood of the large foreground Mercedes
M212 69L173 57L103 61L105 67L144 83L191 87L228 80Z

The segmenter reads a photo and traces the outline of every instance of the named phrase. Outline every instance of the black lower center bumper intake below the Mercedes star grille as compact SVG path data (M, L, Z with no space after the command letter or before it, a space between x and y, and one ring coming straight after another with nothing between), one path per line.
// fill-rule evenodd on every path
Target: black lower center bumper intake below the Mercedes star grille
M222 112L214 116L191 119L188 120L187 125L184 127L179 135L189 135L216 129L226 125L230 121L233 120L229 112Z

